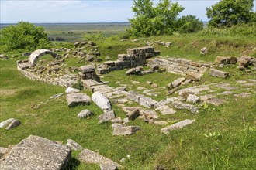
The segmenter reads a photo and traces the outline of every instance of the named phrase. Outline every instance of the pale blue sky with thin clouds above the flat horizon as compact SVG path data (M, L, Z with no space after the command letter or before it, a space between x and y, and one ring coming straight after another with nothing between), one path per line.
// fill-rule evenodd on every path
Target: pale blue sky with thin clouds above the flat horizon
M206 7L219 0L172 2L185 7L181 15L196 15L202 21L208 21ZM132 5L133 0L0 0L0 22L128 22L127 19L133 18Z

